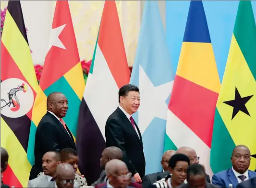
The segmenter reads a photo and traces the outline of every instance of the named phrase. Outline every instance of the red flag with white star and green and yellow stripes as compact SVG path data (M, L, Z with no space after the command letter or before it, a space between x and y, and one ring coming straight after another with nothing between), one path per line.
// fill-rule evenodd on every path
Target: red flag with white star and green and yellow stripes
M69 108L63 120L75 140L79 107L84 89L85 80L79 60L69 3L67 0L57 0L49 51L45 58L38 94L33 107L27 151L27 157L31 165L34 165L35 162L34 145L37 125L47 111L46 100L49 94L61 92L67 97Z

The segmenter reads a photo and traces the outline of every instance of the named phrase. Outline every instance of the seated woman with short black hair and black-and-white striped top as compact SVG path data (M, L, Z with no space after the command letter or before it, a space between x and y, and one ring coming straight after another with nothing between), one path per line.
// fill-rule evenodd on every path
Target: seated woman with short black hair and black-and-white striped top
M169 161L170 175L153 183L150 188L176 188L184 183L187 177L189 158L183 154L172 155Z

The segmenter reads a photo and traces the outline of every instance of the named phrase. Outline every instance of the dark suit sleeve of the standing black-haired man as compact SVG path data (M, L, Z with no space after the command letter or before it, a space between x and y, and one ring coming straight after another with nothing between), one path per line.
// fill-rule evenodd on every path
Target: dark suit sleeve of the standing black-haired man
M123 153L123 162L127 165L127 168L129 171L134 175L137 173L137 170L135 169L133 163L131 160L127 157L126 151L124 149L124 136L123 136L123 129L121 125L118 123L117 120L110 120L107 123L108 126L106 126L105 135L106 135L106 141L110 142L109 146L116 146L119 147L122 150ZM108 147L108 145L107 145Z

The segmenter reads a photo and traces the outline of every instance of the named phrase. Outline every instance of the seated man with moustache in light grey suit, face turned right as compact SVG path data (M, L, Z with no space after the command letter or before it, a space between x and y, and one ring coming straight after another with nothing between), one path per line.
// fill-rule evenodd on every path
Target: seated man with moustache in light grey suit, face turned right
M43 155L42 167L44 174L28 181L28 188L35 188L39 184L41 187L45 187L49 184L56 172L57 166L61 163L61 155L57 151L49 151Z

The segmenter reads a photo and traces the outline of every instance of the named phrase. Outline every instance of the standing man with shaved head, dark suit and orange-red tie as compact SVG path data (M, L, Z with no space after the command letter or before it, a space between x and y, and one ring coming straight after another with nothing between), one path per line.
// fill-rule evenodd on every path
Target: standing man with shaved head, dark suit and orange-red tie
M35 136L35 164L30 171L29 180L34 179L42 169L42 157L51 150L61 151L70 147L76 150L72 133L63 121L68 110L68 100L60 92L53 92L47 98L47 113L37 126Z

